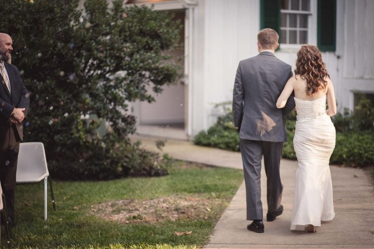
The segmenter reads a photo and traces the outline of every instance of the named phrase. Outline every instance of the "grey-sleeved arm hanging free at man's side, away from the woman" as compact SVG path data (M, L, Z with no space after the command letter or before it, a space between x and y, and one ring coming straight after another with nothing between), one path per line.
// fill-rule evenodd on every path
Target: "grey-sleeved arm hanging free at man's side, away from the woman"
M238 131L240 131L243 120L243 99L242 68L241 63L239 63L238 70L236 71L232 97L232 116L234 119L234 126Z

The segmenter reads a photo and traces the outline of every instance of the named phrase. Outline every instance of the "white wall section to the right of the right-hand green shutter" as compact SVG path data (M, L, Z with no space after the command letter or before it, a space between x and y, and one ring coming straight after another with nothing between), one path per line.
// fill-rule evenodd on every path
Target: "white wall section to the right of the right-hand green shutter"
M354 108L354 92L374 93L374 1L337 1L338 110Z

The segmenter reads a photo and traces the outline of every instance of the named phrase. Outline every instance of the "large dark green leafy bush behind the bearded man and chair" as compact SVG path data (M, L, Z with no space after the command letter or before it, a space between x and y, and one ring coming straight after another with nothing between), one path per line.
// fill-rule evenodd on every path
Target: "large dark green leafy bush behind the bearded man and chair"
M129 142L135 118L128 103L154 101L152 92L179 76L164 51L178 45L180 24L167 12L124 8L122 0L112 8L86 0L83 15L78 2L1 2L0 30L12 36L13 64L31 92L25 140L44 143L55 178L122 176L133 161L153 157ZM97 118L82 120L89 114ZM99 136L103 123L111 133Z

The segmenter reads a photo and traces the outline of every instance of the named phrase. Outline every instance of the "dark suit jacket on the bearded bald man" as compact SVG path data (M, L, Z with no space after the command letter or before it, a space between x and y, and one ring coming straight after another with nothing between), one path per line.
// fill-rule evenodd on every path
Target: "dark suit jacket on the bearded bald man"
M26 108L24 111L25 117L29 109L30 104L30 93L26 89L22 82L19 70L15 66L4 63L5 69L8 72L9 83L11 87L11 94L9 93L4 80L0 75L0 139L3 140L6 132L10 127L15 128L16 134L18 134L17 140L23 140L23 126L22 124L10 125L9 118L15 107Z

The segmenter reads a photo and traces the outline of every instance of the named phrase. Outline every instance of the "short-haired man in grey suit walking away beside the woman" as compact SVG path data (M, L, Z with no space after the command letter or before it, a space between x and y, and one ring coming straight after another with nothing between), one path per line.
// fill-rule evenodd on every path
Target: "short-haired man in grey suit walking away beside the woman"
M239 62L236 72L232 112L239 131L247 220L247 229L263 232L261 202L261 160L264 158L267 177L266 220L273 221L283 212L283 186L280 161L283 142L287 140L283 113L295 107L291 96L284 109L276 102L287 80L292 77L291 66L274 55L279 36L275 30L263 29L257 35L257 56Z

